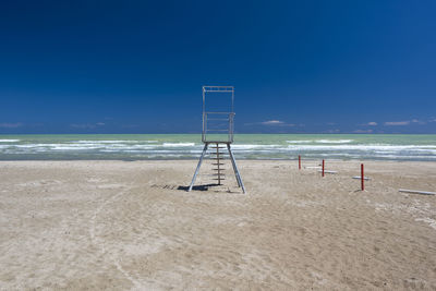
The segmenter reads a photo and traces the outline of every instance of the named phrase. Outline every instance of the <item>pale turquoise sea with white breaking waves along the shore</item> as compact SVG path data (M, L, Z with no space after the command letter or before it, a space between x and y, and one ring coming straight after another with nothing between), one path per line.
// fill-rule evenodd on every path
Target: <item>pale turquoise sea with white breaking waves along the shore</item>
M0 160L193 159L199 134L0 135ZM436 160L436 135L237 134L238 159Z

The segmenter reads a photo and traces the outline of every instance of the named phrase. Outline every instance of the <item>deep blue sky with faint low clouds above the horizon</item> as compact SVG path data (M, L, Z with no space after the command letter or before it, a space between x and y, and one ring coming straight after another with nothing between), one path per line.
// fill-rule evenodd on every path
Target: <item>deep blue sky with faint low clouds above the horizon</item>
M0 133L436 133L435 1L1 1Z

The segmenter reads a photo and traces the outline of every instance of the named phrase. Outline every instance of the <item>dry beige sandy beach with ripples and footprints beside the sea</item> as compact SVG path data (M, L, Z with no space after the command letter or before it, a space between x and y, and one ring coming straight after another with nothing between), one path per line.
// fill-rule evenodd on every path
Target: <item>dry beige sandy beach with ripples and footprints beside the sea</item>
M239 161L247 195L185 192L195 166L1 161L0 289L436 289L436 196L398 192L435 162L366 161L361 192L359 161Z

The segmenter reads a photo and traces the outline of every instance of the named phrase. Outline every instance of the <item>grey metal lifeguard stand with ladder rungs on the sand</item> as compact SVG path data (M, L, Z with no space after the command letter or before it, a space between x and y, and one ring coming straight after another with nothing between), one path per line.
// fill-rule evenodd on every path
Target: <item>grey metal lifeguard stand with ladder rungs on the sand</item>
M211 159L214 160L213 166L215 166L213 170L216 171L214 177L216 177L215 180L218 182L217 185L221 185L221 181L225 180L222 173L223 168L221 167L225 165L222 162L225 153L220 151L220 149L227 148L233 167L234 175L237 178L238 186L242 187L242 191L245 193L245 187L242 183L241 174L239 173L237 161L234 160L234 156L230 146L233 143L233 86L203 86L202 142L204 143L204 148L187 191L191 191L194 186L195 179L197 178L199 168L202 167L203 159L208 148L214 149L211 151ZM215 147L209 147L209 145L215 145Z

